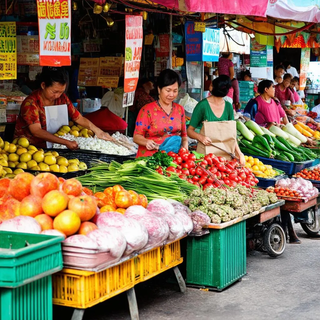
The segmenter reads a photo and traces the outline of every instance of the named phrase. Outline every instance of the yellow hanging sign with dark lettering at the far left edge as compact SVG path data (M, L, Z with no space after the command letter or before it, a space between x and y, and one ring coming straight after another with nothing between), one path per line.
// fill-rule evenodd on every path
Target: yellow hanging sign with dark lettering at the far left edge
M17 78L16 23L0 22L0 80Z

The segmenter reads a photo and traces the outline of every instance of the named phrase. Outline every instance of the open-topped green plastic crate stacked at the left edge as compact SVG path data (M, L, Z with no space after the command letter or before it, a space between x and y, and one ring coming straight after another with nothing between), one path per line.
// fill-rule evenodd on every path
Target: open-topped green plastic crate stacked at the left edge
M60 271L63 239L0 231L0 287L18 287Z

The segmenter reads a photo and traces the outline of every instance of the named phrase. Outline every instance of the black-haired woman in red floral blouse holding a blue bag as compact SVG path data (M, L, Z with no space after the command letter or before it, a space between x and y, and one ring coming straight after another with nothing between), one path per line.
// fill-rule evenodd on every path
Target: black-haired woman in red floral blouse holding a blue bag
M159 99L140 109L133 141L139 145L137 157L151 156L170 136L180 136L182 147L188 149L184 108L173 102L178 97L181 78L165 69L157 79Z

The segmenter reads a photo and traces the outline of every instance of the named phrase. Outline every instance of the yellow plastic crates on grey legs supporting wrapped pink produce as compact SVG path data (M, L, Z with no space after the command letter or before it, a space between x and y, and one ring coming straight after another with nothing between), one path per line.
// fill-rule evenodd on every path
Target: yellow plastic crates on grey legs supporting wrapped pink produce
M64 268L52 276L52 302L75 308L71 320L81 320L86 308L127 291L131 318L139 319L134 285L173 268L180 291L185 292L186 285L177 267L182 261L178 239L99 272Z

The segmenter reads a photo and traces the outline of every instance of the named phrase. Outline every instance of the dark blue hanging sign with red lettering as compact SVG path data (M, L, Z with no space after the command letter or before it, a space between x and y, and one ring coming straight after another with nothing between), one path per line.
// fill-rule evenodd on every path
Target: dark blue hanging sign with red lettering
M192 21L186 21L184 28L186 35L186 60L201 61L202 33L195 31L195 24Z

